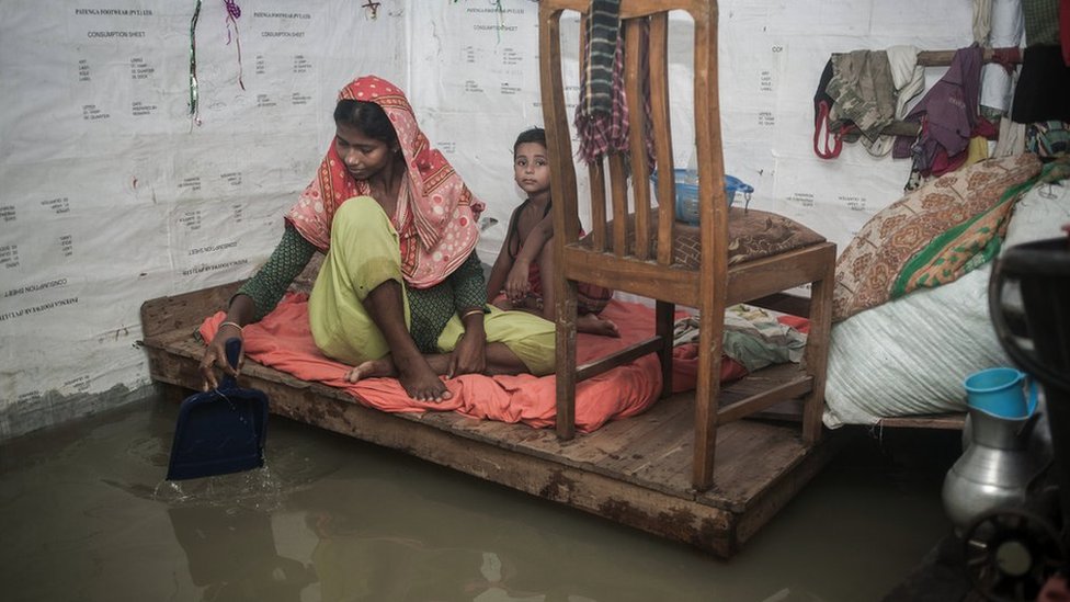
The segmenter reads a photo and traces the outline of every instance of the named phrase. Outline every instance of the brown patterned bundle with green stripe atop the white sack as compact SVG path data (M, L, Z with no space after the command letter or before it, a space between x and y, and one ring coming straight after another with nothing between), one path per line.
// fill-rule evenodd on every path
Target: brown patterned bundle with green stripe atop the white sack
M952 282L983 263L1006 225L1012 203L1001 204L1003 194L1039 171L1035 155L988 159L877 212L836 260L833 321L919 286Z

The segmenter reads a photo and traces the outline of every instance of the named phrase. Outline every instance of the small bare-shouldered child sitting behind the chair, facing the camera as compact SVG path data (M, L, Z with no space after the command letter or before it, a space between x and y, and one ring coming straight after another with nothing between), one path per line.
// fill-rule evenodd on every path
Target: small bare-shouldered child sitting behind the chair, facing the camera
M513 145L513 178L527 200L509 218L509 234L487 281L487 298L501 309L530 311L554 321L554 237L550 216L550 167L546 133L540 127L522 132ZM617 327L601 318L613 291L580 283L576 329L619 337Z

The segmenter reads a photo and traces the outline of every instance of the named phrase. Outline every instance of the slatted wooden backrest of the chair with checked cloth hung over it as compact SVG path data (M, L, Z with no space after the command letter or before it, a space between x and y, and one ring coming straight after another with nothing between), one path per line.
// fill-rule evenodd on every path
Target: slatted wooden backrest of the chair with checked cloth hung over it
M543 110L547 145L554 173L555 237L559 246L581 248L587 252L614 257L621 261L646 262L658 268L673 263L675 223L675 182L673 177L657 178L657 206L650 194L650 175L673 174L673 136L670 120L669 13L684 11L694 23L694 114L686 118L694 126L694 140L684 140L687 154L697 154L701 280L692 277L680 291L662 295L645 291L649 279L635 279L631 292L675 303L693 302L705 289L713 293L716 282L727 272L728 203L724 182L720 117L717 81L717 2L716 0L621 0L621 33L624 36L624 89L630 130L628 149L610 152L588 164L590 183L590 234L579 240L579 189L574 169L565 98L562 72L561 16L579 13L580 68L585 68L590 0L542 0L539 2L539 54ZM674 31L679 27L674 27ZM649 134L647 134L649 132ZM652 140L652 152L648 143ZM652 157L651 157L652 156ZM651 164L651 160L656 164ZM630 179L630 190L629 190ZM633 207L629 207L629 196ZM634 215L633 215L634 214ZM656 251L654 251L656 249ZM565 265L565 261L560 261ZM653 272L651 272L653 273ZM596 282L593 275L592 282ZM627 279L626 279L627 280ZM605 283L618 289L630 289L617 279ZM673 286L669 286L673 288ZM692 289L694 288L694 289Z

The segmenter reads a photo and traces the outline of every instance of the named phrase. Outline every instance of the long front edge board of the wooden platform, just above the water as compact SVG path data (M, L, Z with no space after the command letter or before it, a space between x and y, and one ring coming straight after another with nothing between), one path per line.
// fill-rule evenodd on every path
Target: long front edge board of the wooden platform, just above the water
M148 348L148 351L153 378L179 385L200 378L192 357L178 362L163 350ZM456 436L456 432L436 428L432 423L435 419L385 413L349 399L326 396L319 390L321 387L298 389L278 379L264 378L269 368L263 366L249 368L242 374L243 385L264 391L271 400L272 413L400 450L716 555L727 556L733 549L730 535L735 516L696 503L693 498L641 489L595 472L512 453L501 445ZM504 427L503 430L515 432L532 431L522 424Z

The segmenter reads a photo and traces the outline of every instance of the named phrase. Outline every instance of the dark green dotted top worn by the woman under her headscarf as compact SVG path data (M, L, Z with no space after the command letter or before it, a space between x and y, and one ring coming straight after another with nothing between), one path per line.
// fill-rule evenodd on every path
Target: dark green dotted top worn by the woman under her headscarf
M268 262L238 289L239 294L248 295L255 306L253 321L260 321L278 305L294 279L308 265L315 253L316 247L287 223L282 240ZM439 336L449 318L459 309L483 307L487 303L486 295L482 262L475 252L449 279L437 286L424 289L406 286L409 315L412 318L409 332L417 348L423 353L435 352Z

